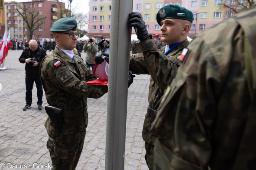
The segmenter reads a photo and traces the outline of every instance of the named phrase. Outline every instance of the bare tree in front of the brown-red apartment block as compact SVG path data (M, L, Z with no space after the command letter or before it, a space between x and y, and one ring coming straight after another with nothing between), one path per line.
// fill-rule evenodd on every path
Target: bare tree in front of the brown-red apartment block
M19 13L19 16L22 17L23 22L27 24L29 39L32 39L33 32L38 29L39 26L44 24L42 18L45 16L39 15L38 11L36 11L33 6L31 6L31 8L28 8L27 4L21 6L21 4L19 3L16 3L16 6L16 10Z

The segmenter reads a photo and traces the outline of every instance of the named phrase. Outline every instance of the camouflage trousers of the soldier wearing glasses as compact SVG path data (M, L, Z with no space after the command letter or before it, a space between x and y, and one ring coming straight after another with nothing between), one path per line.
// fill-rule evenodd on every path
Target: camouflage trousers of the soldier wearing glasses
M86 130L64 136L49 136L47 148L50 151L53 170L74 170L83 150Z

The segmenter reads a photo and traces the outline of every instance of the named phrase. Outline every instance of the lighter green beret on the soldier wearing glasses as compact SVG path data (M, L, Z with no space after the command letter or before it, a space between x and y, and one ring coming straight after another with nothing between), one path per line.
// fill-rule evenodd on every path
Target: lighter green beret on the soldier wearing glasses
M77 28L77 20L71 17L66 17L55 21L50 29L52 32L60 32L60 31L75 31Z

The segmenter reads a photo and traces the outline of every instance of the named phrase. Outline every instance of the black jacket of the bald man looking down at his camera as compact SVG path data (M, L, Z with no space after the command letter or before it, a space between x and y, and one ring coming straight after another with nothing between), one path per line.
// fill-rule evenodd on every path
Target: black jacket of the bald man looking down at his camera
M38 46L38 48L35 51L32 51L29 47L26 47L21 56L19 57L19 61L21 63L25 63L25 59L33 58L35 57L38 61L37 66L29 66L28 63L26 63L25 70L26 74L36 74L39 75L39 66L41 64L42 59L46 56L46 50L44 48L41 48Z

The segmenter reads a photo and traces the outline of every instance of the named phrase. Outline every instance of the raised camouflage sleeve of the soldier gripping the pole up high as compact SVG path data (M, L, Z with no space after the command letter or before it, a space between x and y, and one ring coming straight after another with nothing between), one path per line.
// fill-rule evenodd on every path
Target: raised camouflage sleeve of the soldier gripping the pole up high
M158 87L166 89L176 75L180 65L174 59L168 59L155 45L154 40L146 40L135 45L136 51L143 53L144 63Z

